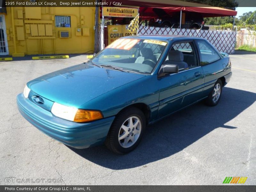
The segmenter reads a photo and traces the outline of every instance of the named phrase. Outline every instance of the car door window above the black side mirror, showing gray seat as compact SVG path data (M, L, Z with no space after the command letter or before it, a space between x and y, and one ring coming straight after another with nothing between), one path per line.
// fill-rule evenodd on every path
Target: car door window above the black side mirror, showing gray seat
M197 67L193 42L179 42L173 44L164 64L178 65L179 71Z

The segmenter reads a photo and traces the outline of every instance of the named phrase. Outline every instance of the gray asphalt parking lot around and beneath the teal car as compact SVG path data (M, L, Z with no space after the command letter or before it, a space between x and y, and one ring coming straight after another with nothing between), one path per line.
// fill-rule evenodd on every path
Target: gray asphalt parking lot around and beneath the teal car
M221 185L225 177L256 184L256 54L230 55L233 76L216 107L198 103L148 127L124 156L104 146L73 149L51 139L18 112L25 83L79 64L60 60L0 62L0 185ZM13 183L5 178L62 179Z

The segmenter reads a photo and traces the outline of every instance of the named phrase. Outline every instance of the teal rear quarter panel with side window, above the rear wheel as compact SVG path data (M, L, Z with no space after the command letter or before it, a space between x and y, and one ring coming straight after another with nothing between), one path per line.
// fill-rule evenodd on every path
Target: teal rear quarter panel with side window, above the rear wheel
M213 85L223 75L226 70L226 64L223 63L219 52L207 41L196 40L199 52L200 66L204 71L204 90L203 96L206 97L211 92Z

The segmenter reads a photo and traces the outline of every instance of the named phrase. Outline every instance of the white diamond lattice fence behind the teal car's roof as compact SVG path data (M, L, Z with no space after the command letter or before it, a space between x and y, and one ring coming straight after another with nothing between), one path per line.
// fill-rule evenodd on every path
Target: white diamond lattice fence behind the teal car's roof
M178 28L158 28L140 26L138 35L184 35L202 37L213 44L220 52L232 54L235 52L236 32L210 31Z

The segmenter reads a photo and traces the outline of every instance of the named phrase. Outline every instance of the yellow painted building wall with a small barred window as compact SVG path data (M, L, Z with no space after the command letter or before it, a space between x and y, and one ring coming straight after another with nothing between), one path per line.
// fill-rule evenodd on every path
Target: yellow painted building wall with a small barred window
M13 24L16 53L60 54L94 50L95 7L13 7L13 23L12 10L10 7L6 9L5 25L10 55L15 56ZM70 16L71 28L55 27L55 15ZM69 31L69 38L60 38L59 31Z

